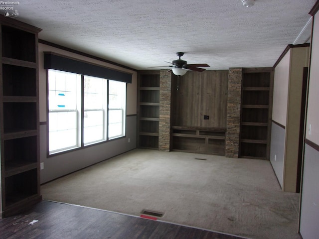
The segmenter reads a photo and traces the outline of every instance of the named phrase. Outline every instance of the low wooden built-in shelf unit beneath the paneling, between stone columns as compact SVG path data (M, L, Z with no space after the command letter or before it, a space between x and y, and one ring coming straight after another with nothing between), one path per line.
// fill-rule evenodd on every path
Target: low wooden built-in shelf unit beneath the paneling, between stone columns
M225 155L226 128L172 126L172 150Z

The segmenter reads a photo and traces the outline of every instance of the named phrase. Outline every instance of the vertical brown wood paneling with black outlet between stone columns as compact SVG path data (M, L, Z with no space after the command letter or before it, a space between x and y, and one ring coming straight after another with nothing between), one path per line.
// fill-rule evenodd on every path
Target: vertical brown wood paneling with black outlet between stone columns
M227 89L228 70L173 77L172 125L226 127Z

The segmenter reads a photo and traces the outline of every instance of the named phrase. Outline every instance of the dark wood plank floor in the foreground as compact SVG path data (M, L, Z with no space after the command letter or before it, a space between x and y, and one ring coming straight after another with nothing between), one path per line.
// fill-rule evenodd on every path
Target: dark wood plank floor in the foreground
M38 220L30 224L33 220ZM98 209L41 201L0 219L0 239L241 239Z

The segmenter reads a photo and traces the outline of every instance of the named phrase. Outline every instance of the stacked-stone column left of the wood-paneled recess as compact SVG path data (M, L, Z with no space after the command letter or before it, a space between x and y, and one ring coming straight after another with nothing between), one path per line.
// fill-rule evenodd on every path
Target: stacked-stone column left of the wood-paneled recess
M159 150L170 149L171 72L160 70Z

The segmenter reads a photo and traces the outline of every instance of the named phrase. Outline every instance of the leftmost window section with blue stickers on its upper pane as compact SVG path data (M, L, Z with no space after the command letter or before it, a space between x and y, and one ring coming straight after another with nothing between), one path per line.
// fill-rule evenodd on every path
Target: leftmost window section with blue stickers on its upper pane
M79 86L81 76L49 70L49 151L80 146Z

